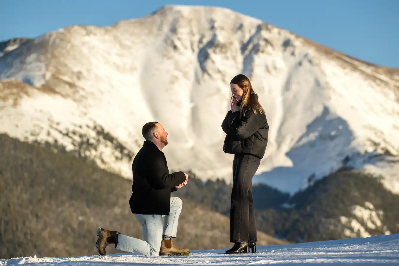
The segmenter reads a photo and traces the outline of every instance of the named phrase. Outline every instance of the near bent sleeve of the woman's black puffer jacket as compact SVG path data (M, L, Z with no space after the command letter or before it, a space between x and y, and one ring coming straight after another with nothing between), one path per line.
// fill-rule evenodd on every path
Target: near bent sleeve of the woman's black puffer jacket
M243 140L255 134L259 130L260 120L259 114L255 114L253 110L245 112L245 116L240 116L240 112L235 114L233 123L230 126L230 135L235 140Z

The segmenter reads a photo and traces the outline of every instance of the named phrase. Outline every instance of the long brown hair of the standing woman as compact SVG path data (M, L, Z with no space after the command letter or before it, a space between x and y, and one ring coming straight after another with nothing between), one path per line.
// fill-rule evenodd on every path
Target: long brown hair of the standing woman
M237 76L233 77L230 81L231 84L235 84L241 89L243 89L243 97L241 101L241 110L240 115L244 114L247 110L253 110L256 114L257 112L264 114L265 110L259 103L257 97L255 97L255 91L252 88L251 81L249 81L248 77L243 74L238 74Z

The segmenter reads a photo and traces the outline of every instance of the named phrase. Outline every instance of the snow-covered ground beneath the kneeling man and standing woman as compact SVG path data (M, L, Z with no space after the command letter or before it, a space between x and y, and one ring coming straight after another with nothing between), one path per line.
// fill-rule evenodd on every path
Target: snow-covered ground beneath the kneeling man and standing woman
M225 250L197 250L185 257L144 257L136 254L83 256L72 258L14 258L0 265L226 265L226 264L304 264L313 265L399 265L399 234L371 236L302 244L262 246L256 254L227 255Z

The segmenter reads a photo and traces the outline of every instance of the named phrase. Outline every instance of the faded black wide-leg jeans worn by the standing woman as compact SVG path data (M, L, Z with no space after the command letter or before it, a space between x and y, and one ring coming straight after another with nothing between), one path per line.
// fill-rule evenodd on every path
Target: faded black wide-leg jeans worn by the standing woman
M235 154L233 189L230 207L230 242L257 241L252 178L261 159L247 154Z

